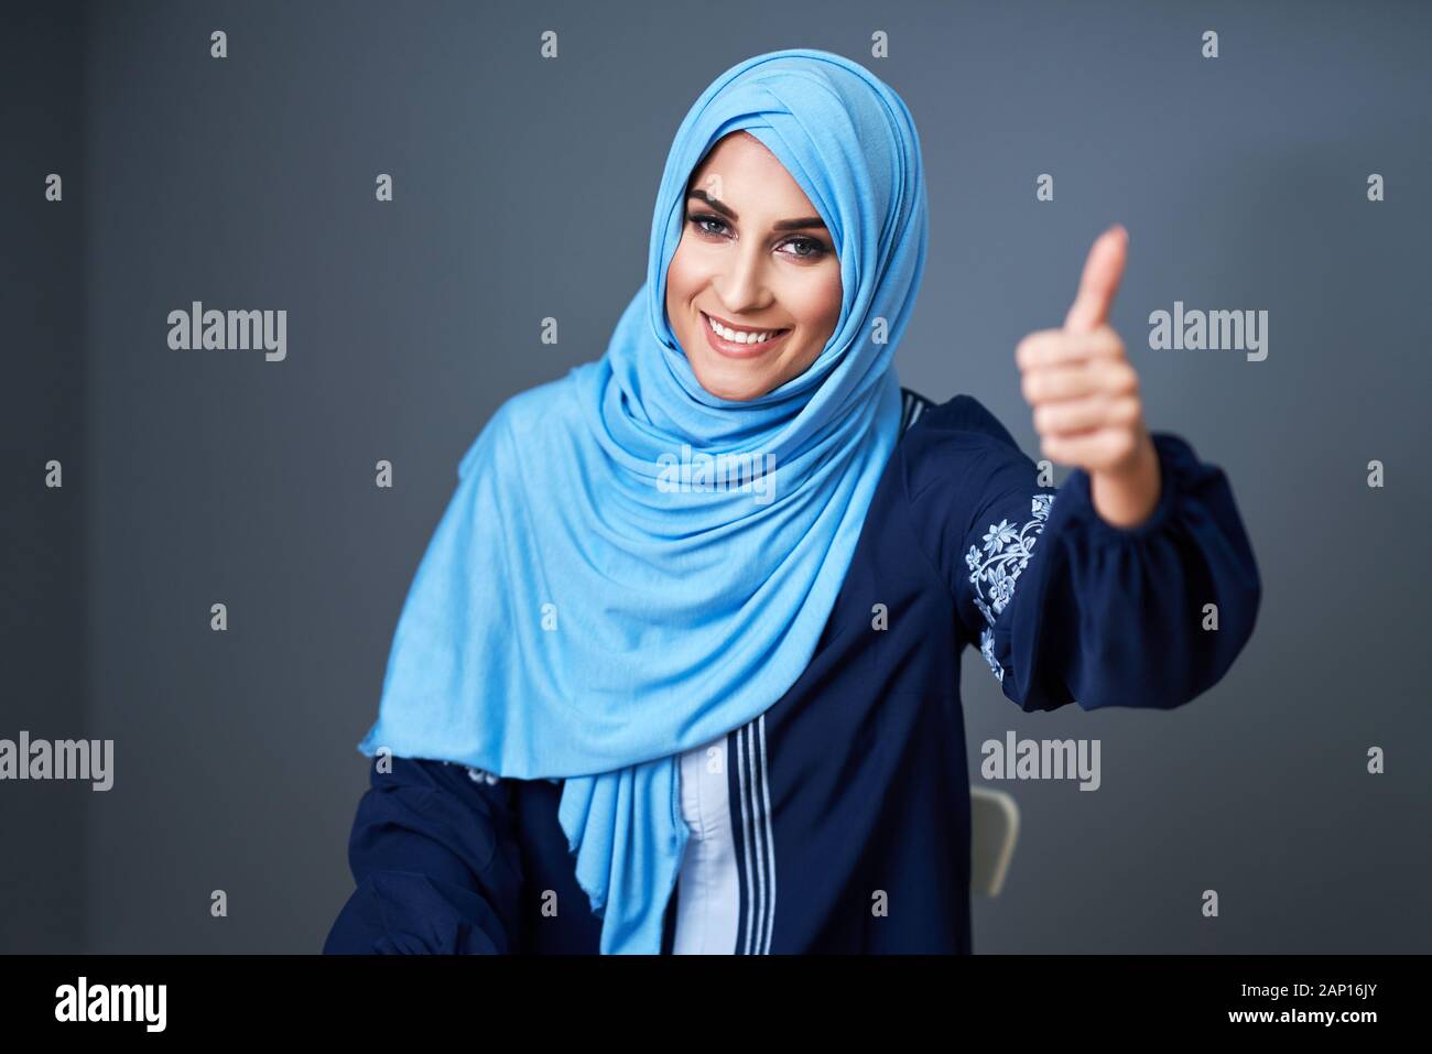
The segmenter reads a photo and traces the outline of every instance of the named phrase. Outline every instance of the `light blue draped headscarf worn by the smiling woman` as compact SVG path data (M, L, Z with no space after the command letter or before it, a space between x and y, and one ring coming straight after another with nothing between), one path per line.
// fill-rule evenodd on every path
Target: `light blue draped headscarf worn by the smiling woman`
M700 387L666 318L687 180L739 129L815 205L842 279L819 358L748 402ZM925 243L901 97L829 52L748 59L676 132L606 355L508 400L463 457L358 749L564 779L603 952L660 951L687 838L677 756L763 713L815 652L895 445ZM673 475L702 453L755 454L762 475Z

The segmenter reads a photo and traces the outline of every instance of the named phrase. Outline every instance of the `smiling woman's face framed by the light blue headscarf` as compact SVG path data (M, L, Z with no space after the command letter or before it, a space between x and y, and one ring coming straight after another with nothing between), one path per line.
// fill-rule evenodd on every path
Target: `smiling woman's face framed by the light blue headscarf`
M815 206L759 139L733 132L692 173L684 208L666 316L696 379L746 401L799 377L841 319L841 261Z

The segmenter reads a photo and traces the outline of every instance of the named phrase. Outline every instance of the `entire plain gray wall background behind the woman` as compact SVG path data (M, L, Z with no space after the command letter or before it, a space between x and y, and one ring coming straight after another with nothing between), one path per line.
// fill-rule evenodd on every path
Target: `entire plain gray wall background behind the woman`
M117 758L107 793L0 785L0 951L321 947L354 748L458 457L604 349L682 116L789 46L869 64L915 115L932 226L902 382L974 394L1038 457L1012 349L1123 221L1113 321L1147 420L1227 471L1263 574L1243 656L1171 713L1024 715L967 653L972 765L1005 729L1103 740L1095 793L1002 785L1022 838L975 949L1429 951L1425 6L3 10L0 736ZM193 299L288 309L288 359L169 351ZM1174 299L1267 309L1267 359L1150 351Z

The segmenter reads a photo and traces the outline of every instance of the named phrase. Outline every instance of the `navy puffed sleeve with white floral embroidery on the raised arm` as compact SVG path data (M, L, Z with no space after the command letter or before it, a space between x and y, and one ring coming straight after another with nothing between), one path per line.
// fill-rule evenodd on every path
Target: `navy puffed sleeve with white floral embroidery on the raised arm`
M916 533L1007 697L1025 710L1170 709L1229 670L1262 584L1226 475L1187 441L1153 432L1158 503L1124 528L1098 516L1088 473L1041 487L972 398L925 424L928 464L908 491Z

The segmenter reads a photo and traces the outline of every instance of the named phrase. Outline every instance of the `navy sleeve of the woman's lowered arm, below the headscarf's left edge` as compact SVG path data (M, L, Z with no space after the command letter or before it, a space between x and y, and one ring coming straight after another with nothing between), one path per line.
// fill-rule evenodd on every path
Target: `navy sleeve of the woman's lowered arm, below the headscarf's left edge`
M511 788L480 769L392 758L372 765L348 861L358 888L326 955L517 952L521 854Z

